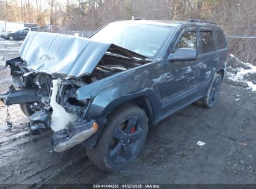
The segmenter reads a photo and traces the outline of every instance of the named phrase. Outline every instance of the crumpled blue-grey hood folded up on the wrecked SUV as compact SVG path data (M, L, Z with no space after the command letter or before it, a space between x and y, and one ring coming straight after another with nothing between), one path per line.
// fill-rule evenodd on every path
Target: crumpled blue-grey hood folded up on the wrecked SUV
M92 73L107 50L126 57L146 58L113 44L47 32L29 32L19 53L33 71L80 78Z

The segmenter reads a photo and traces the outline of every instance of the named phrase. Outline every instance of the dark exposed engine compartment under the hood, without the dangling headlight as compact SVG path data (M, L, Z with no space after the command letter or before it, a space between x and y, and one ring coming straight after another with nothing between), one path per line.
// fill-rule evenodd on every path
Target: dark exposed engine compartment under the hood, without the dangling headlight
M14 88L34 90L33 97L31 96L32 98L27 99L24 103L36 101L37 106L33 106L33 109L38 110L42 107L50 109L48 106L51 106L52 109L52 104L50 103L56 101L67 113L76 114L77 119L84 119L90 101L79 101L77 99L76 91L78 88L141 64L143 64L141 60L135 62L130 58L106 54L98 62L91 75L84 75L80 78L69 78L58 74L31 71L20 57L7 60L6 66L9 65L11 67L12 85ZM56 96L56 98L53 96ZM12 99L4 100L6 104L13 104Z

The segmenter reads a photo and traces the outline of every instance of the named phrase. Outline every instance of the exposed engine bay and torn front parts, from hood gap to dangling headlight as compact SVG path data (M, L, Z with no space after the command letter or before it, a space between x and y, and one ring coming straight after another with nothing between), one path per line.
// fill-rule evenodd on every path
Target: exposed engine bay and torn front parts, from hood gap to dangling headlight
M52 150L67 150L98 131L97 120L86 114L91 100L78 99L77 90L146 62L143 57L133 57L130 52L130 56L126 56L123 53L126 50L121 47L113 47L110 45L109 51L104 53L91 73L80 76L70 76L62 71L49 73L42 69L34 70L21 57L7 60L6 66L11 67L13 82L11 90L0 94L1 101L7 106L29 104L32 134L40 134L41 129L52 129Z

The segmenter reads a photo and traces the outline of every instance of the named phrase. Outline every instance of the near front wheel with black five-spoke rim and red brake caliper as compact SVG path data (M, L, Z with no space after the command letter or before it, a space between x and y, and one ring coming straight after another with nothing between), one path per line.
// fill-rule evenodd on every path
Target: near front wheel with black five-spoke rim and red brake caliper
M120 106L109 114L97 145L87 149L88 158L105 172L120 170L138 157L147 132L148 119L142 109Z

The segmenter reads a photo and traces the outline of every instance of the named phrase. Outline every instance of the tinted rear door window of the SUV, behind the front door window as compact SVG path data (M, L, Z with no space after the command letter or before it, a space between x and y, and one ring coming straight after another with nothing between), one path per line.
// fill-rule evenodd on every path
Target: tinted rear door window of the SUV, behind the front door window
M211 52L215 50L214 35L212 32L200 32L202 53Z

